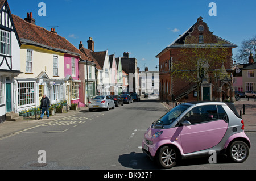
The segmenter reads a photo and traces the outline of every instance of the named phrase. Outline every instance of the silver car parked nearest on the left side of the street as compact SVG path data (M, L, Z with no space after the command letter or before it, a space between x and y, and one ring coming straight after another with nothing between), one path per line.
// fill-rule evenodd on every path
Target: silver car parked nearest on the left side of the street
M115 103L108 95L97 95L89 101L88 106L90 112L94 109L105 109L106 111L109 111L109 108L115 108Z

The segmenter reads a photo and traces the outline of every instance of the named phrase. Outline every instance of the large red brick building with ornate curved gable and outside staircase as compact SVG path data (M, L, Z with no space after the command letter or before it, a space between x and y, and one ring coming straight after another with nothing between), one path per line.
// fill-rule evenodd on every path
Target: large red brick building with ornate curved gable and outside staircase
M189 41L193 38L196 41ZM201 81L198 92L195 82L171 76L170 73L175 62L182 61L184 58L181 57L180 52L182 50L192 49L193 45L209 45L209 47L214 47L217 44L221 44L223 48L226 48L227 52L222 66L220 65L219 68L216 68L220 70L220 74L217 76L207 75L207 78ZM197 100L197 94L199 94L200 100L232 99L234 90L230 73L232 72L233 64L232 49L236 47L236 44L213 35L213 32L209 31L207 23L203 21L203 18L198 18L193 26L156 56L156 58L159 58L160 100L192 101Z

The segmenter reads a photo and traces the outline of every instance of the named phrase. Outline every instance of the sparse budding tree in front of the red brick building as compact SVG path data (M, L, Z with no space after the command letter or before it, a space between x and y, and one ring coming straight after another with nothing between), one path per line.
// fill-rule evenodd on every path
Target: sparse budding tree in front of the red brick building
M180 60L174 60L171 65L171 76L197 85L197 100L201 82L220 74L221 66L227 58L231 58L228 48L222 47L217 41L209 42L213 41L207 36L204 36L204 43L198 43L197 37L189 37L185 40L184 48L179 51Z

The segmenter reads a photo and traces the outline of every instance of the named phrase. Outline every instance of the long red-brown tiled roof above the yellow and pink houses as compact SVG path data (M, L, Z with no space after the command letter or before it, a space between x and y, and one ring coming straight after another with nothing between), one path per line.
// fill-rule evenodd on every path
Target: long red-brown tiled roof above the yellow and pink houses
M67 39L57 35L57 33L28 23L16 15L13 15L13 21L22 44L30 44L57 52L73 54L80 56L82 60L88 59L85 54L81 53L79 49L72 45Z

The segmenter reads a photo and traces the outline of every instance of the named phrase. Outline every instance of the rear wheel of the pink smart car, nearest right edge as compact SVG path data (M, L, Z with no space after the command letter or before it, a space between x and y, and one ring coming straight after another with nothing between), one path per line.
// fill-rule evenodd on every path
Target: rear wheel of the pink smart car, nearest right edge
M230 145L229 156L237 163L244 162L249 155L249 148L243 141L235 141Z

